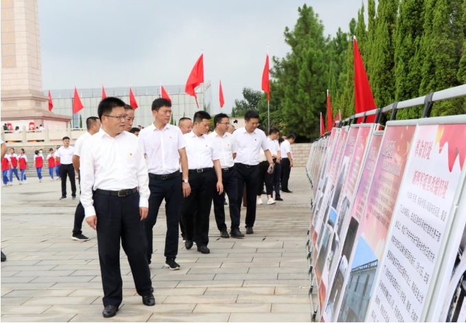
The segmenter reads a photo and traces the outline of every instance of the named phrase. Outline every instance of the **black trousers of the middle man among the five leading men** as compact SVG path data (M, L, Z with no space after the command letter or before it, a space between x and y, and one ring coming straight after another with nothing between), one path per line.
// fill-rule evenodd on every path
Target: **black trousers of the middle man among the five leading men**
M209 243L209 216L217 176L215 171L189 173L190 196L183 198L181 216L184 221L186 240L194 241L197 247ZM216 193L217 194L217 193Z

